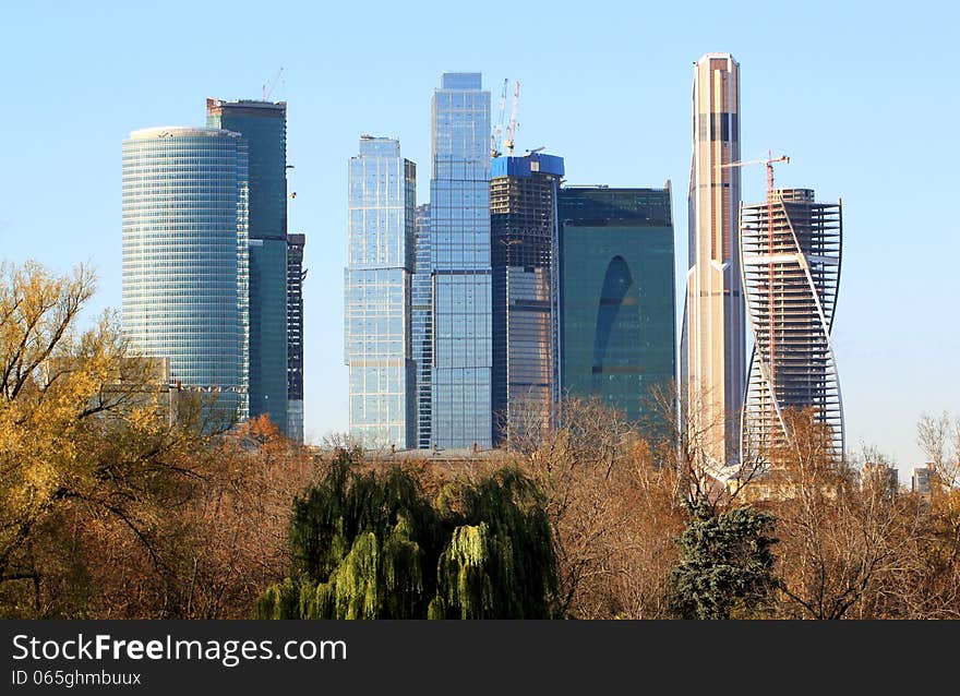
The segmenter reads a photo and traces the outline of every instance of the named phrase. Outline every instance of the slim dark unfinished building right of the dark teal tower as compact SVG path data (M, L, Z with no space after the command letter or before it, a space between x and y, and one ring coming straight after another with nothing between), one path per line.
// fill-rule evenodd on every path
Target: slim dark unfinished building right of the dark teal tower
M303 443L303 247L307 235L287 235L287 436Z

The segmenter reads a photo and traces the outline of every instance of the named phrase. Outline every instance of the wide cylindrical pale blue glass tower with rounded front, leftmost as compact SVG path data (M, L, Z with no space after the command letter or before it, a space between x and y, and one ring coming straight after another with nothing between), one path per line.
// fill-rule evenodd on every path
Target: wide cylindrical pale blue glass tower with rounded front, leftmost
M238 133L165 127L123 141L123 333L171 383L248 411L248 158Z

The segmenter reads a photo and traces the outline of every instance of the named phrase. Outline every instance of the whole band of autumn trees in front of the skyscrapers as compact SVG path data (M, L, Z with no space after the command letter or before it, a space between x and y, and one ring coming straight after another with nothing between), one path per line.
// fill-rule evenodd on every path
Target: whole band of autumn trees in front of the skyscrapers
M80 328L86 269L0 276L0 616L960 617L957 419L920 423L923 495L805 412L720 485L669 395L463 466L309 449L171 418L116 316Z

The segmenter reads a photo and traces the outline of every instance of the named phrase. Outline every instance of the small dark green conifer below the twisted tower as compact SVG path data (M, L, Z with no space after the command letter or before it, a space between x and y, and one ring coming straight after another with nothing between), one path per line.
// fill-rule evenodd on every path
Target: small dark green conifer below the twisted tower
M767 610L776 587L773 517L752 507L716 513L697 502L680 537L671 607L681 619L741 619Z

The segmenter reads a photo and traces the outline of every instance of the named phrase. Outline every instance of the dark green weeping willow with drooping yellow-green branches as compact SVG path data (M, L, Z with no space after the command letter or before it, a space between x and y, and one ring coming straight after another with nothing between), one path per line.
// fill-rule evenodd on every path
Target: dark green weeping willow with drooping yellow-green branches
M259 619L545 619L556 560L543 500L515 469L455 481L435 497L420 473L360 472L339 452L295 501L291 576Z

